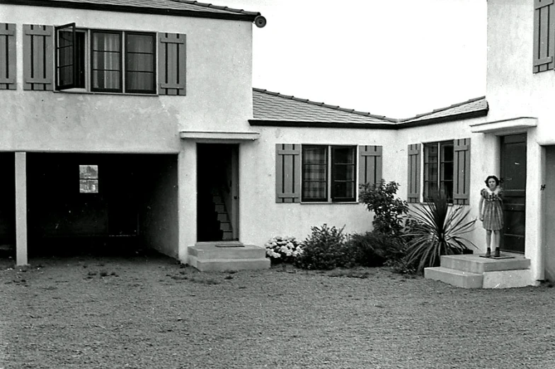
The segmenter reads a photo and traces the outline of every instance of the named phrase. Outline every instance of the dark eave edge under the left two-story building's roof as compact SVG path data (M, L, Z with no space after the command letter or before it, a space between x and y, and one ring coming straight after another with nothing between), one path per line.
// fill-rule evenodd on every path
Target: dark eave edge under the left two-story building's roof
M23 6L50 6L53 8L73 8L96 11L118 11L122 13L146 13L161 16L185 16L193 18L212 18L226 19L229 21L248 21L253 22L260 13L252 14L233 14L233 13L212 13L210 11L189 11L178 9L149 8L140 6L126 6L113 4L85 4L74 1L47 1L47 0L1 0L2 4L13 4Z

